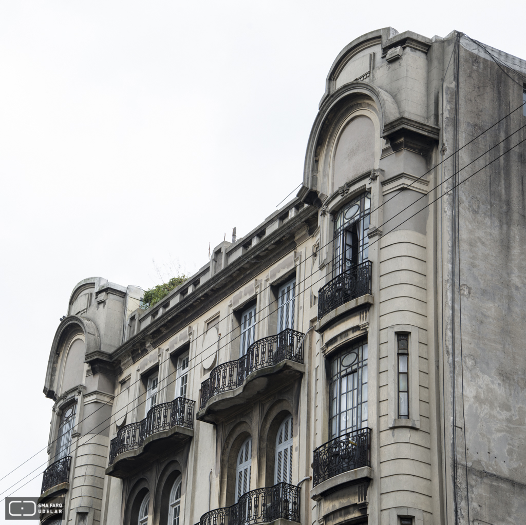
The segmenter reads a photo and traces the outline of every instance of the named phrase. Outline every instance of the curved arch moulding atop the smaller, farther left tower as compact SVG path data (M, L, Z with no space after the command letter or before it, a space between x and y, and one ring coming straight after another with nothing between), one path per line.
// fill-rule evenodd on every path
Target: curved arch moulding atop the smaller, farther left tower
M44 394L46 397L56 400L56 370L60 354L63 353L65 349L65 343L74 337L75 334L79 333L84 336L86 354L100 349L100 335L95 323L78 315L69 315L66 317L55 332L53 344L49 352L46 380L44 383Z

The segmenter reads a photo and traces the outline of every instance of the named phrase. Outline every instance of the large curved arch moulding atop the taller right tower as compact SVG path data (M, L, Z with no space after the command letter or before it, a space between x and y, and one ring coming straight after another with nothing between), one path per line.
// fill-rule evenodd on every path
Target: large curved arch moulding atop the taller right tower
M351 82L328 96L318 111L309 135L304 165L304 181L298 192L298 197L302 201L321 205L318 197L320 191L318 187L320 150L325 146L332 123L339 119L341 113L346 111L353 102L368 106L375 112L380 124L380 135L383 135L383 129L389 122L400 117L395 99L387 91L367 82Z

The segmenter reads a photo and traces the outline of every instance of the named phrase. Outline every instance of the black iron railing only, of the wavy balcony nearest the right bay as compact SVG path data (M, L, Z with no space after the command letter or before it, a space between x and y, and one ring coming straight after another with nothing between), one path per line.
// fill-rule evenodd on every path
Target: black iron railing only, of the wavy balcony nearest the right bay
M287 328L278 335L258 339L248 347L247 353L236 361L228 361L216 366L210 372L210 377L201 383L199 409L205 408L208 399L212 396L241 386L254 370L276 365L284 359L303 363L301 340L304 335Z

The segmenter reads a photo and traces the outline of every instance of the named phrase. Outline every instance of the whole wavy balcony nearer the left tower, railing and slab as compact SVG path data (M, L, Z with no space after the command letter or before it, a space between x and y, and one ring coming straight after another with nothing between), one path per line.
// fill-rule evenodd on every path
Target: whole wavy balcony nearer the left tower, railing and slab
M106 474L125 478L143 468L166 451L178 447L194 435L195 402L178 397L156 405L146 417L119 429L109 447L109 466Z

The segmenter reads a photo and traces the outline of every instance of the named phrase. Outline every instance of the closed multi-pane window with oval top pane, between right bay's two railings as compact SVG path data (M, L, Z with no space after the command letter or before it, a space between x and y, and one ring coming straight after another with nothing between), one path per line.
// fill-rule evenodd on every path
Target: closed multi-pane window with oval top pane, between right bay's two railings
M330 438L367 427L367 341L332 358L330 365Z

